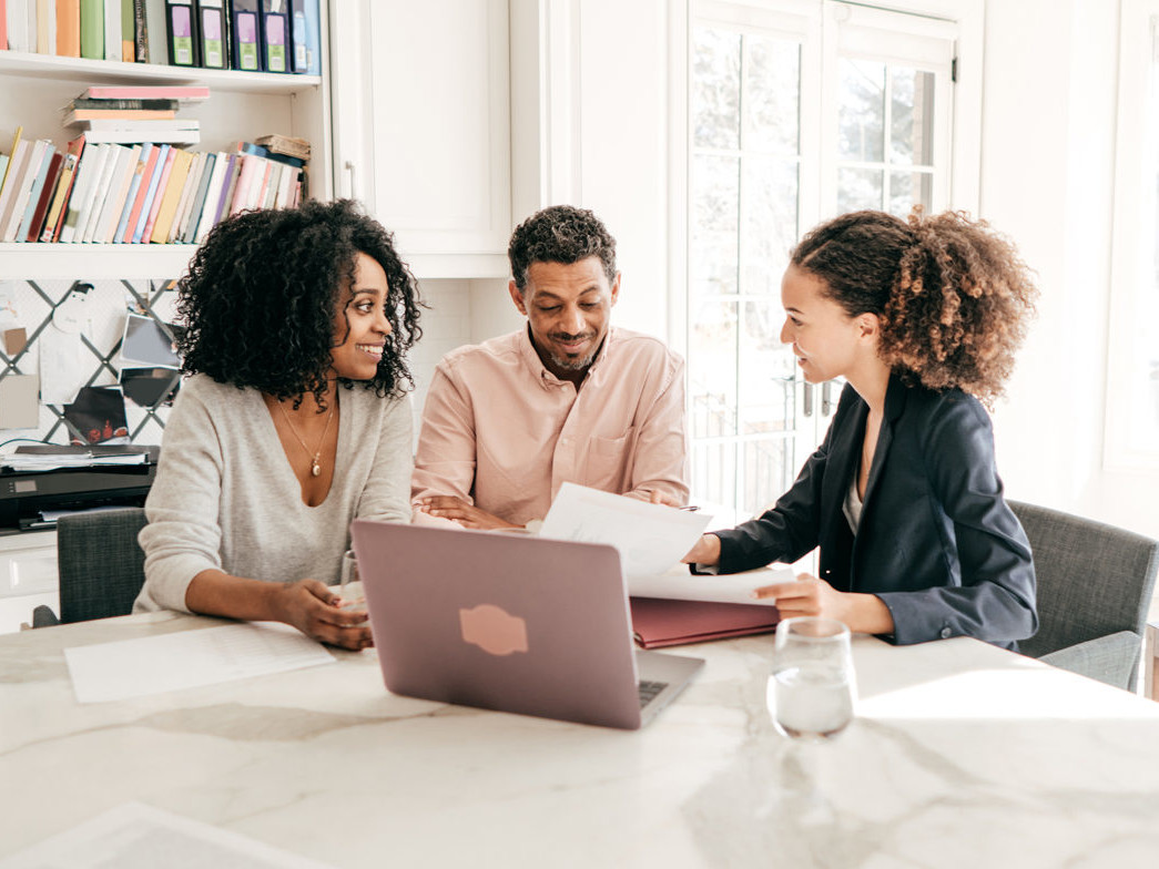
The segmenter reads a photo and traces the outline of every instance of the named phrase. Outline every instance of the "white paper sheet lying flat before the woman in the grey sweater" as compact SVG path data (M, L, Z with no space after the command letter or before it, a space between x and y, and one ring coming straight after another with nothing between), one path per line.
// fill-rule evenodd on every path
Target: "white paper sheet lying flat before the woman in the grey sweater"
M80 703L333 664L322 645L289 625L260 622L65 649Z

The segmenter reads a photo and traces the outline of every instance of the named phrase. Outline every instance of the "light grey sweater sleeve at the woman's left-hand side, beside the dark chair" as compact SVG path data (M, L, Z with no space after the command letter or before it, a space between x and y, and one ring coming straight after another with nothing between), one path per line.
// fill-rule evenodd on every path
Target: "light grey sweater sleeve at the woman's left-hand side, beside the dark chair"
M221 568L223 451L213 415L195 388L174 402L156 477L145 501L145 585L134 612L178 609L197 574Z

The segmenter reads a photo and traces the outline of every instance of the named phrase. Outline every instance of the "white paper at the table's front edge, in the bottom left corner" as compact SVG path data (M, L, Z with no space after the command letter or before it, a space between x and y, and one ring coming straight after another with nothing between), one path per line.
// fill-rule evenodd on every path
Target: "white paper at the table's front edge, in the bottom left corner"
M125 803L31 848L0 869L326 869L323 863L141 803Z

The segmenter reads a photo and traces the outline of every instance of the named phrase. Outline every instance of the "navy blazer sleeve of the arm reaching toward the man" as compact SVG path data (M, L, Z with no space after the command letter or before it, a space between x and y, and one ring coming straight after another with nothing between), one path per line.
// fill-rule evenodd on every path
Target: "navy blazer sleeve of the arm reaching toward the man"
M792 563L817 548L821 539L821 487L825 480L833 432L844 423L833 415L825 439L801 468L796 481L777 504L761 516L728 531L712 532L721 540L719 574L771 564Z

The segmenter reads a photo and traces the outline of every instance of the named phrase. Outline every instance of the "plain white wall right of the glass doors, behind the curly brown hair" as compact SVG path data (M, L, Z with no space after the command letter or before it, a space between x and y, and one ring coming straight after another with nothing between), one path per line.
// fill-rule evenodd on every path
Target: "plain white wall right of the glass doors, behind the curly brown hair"
M1159 534L1102 472L1118 64L1115 0L986 3L982 217L1038 273L1038 319L994 414L1011 497ZM1132 503L1134 502L1134 503Z

